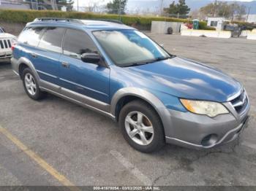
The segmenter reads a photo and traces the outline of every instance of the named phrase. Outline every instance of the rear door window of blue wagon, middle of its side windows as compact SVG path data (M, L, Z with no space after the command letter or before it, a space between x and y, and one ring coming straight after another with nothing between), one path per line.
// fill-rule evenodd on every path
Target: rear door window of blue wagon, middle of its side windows
M61 42L64 31L64 28L46 28L45 33L42 35L42 38L38 44L38 47L45 50L61 53Z

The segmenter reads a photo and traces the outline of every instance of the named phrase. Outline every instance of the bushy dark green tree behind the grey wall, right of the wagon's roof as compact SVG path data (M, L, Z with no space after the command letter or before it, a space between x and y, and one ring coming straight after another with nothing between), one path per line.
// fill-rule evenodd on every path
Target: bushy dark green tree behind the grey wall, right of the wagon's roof
M178 0L178 4L173 1L168 8L164 9L164 11L169 15L187 15L189 10L186 0Z

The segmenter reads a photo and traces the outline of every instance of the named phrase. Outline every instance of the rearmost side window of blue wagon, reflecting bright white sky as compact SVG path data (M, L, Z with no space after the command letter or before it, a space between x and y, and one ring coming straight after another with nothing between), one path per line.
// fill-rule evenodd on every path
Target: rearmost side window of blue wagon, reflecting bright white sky
M25 28L18 37L18 42L37 47L37 44L40 40L40 34L42 34L43 29L43 27Z

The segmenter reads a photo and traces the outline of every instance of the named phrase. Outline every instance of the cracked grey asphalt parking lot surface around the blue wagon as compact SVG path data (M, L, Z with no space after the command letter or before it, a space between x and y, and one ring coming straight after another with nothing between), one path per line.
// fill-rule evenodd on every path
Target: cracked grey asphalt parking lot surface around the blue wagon
M256 42L148 35L244 84L252 107L240 138L204 151L167 145L143 154L108 117L53 95L32 101L10 63L1 63L0 128L7 132L0 130L0 186L256 185Z

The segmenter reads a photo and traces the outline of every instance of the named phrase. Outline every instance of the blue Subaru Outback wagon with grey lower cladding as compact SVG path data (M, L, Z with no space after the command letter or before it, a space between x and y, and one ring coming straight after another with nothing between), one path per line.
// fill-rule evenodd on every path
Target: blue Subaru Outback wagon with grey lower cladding
M249 119L240 82L121 23L38 18L12 50L30 98L52 93L106 114L141 152L165 143L215 147L236 139Z

